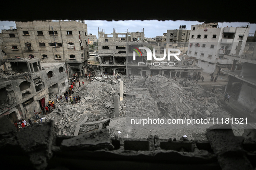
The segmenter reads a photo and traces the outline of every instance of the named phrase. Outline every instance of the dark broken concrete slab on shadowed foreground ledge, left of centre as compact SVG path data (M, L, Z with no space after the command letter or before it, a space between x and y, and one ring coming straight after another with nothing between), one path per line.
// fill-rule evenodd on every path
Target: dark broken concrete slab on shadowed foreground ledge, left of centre
M83 133L71 139L65 139L62 141L60 148L63 151L96 151L101 149L114 149L110 142L110 134L107 129Z

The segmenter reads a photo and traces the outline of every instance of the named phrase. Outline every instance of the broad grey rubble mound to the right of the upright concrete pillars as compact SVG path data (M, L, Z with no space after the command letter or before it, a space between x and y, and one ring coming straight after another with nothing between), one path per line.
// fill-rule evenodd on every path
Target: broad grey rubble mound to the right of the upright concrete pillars
M156 99L159 118L194 119L207 117L230 117L219 107L219 100L212 92L205 91L196 82L181 79L175 81L164 76L148 76L136 83L138 88L149 89L146 101L153 106ZM156 109L157 110L157 109ZM154 110L155 112L155 110Z

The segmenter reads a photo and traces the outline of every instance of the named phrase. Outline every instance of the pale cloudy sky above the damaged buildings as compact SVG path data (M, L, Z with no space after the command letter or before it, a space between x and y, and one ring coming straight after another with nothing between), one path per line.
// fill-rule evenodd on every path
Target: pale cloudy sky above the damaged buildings
M197 21L158 21L158 20L125 20L125 21L104 21L104 20L85 20L87 24L87 32L88 34L96 35L98 38L98 28L102 28L105 30L105 34L113 33L113 28L116 29L116 32L126 32L129 29L129 32L141 32L144 28L144 35L146 38L154 38L157 35L163 35L166 33L168 29L178 29L179 25L186 25L187 29L191 29L191 25L202 24L203 22ZM248 22L219 22L219 27L227 27L227 26L242 26L248 25ZM16 28L14 21L0 21L0 30L2 29L10 29L10 26L14 26ZM250 34L249 36L253 36L256 30L256 24L250 24Z

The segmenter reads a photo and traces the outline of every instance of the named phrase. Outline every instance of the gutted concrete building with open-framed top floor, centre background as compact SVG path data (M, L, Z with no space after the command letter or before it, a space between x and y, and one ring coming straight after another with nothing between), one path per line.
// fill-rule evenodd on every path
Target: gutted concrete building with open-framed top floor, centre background
M143 71L146 71L144 68L148 69L146 66L138 66L138 62L146 61L145 57L136 56L136 60L133 60L133 52L135 52L136 48L147 47L149 45L144 40L144 29L141 32L129 32L127 29L127 32L124 33L117 33L113 29L113 33L111 34L105 34L104 30L100 29L98 33L101 74L104 72L110 75L117 73L121 75L142 75ZM141 52L143 54L143 50Z

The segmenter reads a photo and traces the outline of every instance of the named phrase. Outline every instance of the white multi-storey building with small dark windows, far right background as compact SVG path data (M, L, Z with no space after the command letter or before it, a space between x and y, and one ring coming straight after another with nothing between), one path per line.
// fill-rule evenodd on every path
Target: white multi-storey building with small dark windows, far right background
M198 60L197 66L207 73L219 73L222 67L231 67L233 61L225 54L241 55L250 27L217 28L218 22L192 25L188 56Z

